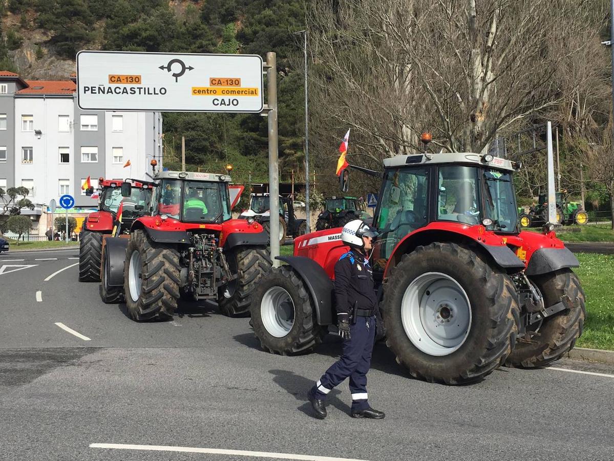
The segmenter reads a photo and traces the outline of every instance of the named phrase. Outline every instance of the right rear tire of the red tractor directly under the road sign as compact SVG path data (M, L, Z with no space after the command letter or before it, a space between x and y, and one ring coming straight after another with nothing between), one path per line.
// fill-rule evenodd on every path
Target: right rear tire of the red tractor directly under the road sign
M220 289L220 311L228 317L247 317L256 284L271 270L268 251L265 247L238 247L226 255L226 260L238 277Z

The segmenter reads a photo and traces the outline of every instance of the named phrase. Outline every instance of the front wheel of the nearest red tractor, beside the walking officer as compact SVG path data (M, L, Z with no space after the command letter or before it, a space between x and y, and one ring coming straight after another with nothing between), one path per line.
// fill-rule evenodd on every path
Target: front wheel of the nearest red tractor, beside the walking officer
M250 311L262 349L272 354L309 352L327 333L316 323L305 284L289 266L272 269L260 279Z

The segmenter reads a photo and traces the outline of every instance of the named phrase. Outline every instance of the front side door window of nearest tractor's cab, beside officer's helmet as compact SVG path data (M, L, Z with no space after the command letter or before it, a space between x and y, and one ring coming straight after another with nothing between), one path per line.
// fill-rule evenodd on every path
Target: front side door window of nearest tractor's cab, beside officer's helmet
M381 237L376 257L387 259L397 243L427 223L429 176L426 168L386 171L376 223Z

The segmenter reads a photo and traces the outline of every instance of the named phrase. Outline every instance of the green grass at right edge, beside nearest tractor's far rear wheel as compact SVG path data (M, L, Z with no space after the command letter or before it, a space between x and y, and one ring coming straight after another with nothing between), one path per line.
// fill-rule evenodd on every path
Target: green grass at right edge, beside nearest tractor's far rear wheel
M578 347L614 350L614 255L576 254L580 267L573 269L586 293L586 322Z

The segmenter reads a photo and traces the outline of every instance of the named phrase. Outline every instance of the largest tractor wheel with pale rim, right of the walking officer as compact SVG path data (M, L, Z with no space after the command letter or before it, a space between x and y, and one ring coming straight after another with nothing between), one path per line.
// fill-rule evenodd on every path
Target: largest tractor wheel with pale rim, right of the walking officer
M478 381L502 365L518 332L510 277L453 243L403 255L384 282L381 313L397 362L430 382Z

